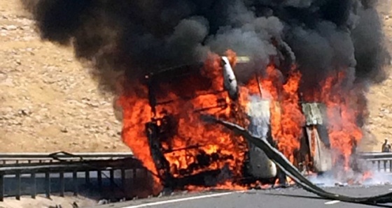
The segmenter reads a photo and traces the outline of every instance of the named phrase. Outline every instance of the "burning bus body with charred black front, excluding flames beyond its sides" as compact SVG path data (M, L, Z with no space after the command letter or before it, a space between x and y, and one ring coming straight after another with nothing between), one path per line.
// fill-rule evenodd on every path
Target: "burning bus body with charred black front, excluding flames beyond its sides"
M282 103L263 89L263 78L257 73L253 80L257 83L257 93L244 91L251 87L241 86L249 83L241 83L235 75L236 68L246 67L248 61L248 57L229 54L214 57L209 63L167 68L146 75L144 86L148 91L151 119L146 122L145 133L155 175L165 188L245 187L255 181L274 183L279 177L276 165L261 149L229 131L200 121L203 114L235 121L248 126L255 135L267 136L277 149L287 148L279 145L285 145L282 140L290 140L275 138L285 135L276 134L273 131L276 122L271 121L276 119L276 112L282 111ZM209 67L218 70L211 71ZM332 155L325 105L304 102L297 91L294 93L297 106L301 106L297 113L304 122L298 125L297 147L286 149L283 154L303 170L327 172L332 168ZM253 116L249 117L250 114ZM282 132L289 128L284 124L283 121L278 127Z

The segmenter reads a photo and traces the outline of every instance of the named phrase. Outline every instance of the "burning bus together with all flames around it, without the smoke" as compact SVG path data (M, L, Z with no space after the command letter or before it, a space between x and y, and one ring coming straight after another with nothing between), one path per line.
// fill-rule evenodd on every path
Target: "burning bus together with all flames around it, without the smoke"
M265 74L255 72L244 82L235 72L246 64L237 62L229 51L228 57L211 55L202 66L162 70L120 98L123 138L153 173L156 190L246 189L288 182L260 148L207 124L202 114L248 126L303 174L333 172L352 184L368 177L353 157L362 138L363 110L356 91L341 86L344 71L303 92L295 67L283 77L270 64ZM348 171L360 177L347 178Z

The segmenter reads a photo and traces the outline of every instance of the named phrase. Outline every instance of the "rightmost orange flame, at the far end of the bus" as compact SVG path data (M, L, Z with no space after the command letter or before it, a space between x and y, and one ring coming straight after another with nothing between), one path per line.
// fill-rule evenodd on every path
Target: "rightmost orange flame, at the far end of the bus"
M307 99L324 103L327 107L328 135L331 147L335 150L335 163L343 163L349 168L353 148L363 137L358 126L358 116L363 111L358 102L360 94L356 89L344 87L346 73L344 70L332 73L323 82L316 93Z

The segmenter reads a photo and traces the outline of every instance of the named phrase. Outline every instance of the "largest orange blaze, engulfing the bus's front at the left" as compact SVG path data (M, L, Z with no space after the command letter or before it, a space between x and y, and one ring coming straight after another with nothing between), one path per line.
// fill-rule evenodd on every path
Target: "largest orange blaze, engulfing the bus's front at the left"
M231 64L235 64L235 54L228 52ZM165 84L160 85L161 93L165 94L165 100L172 101L165 105L157 106L157 115L153 115L148 103L147 87L136 85L132 91L123 94L119 99L123 107L123 140L132 149L134 155L139 158L146 168L157 175L151 149L146 138L145 125L154 117L162 117L163 111L169 112L176 121L174 135L167 141L162 141L162 147L168 151L165 158L169 162L170 172L173 177L181 177L181 174L197 174L205 170L219 170L228 166L230 171L241 175L241 169L246 152L246 144L242 138L237 138L229 131L223 131L221 127L206 125L201 119L198 110L207 114L216 114L225 119L232 119L232 108L239 110L240 106L229 105L227 92L223 91L223 77L221 76L220 58L211 54L207 60L202 75L212 82L209 84L211 91L198 89L187 80L183 88L192 91L193 98L184 99L176 91ZM196 83L197 84L197 83ZM183 91L184 89L181 89ZM239 113L240 114L240 113ZM238 114L235 115L238 117ZM200 157L207 157L208 163L200 161ZM158 177L155 181L160 183ZM237 186L225 181L220 187L235 188ZM192 186L190 186L192 187Z

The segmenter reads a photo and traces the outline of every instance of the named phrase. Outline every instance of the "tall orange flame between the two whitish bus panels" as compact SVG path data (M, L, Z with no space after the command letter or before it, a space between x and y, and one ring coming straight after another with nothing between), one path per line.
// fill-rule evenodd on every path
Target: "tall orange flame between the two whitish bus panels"
M302 126L304 125L304 116L300 110L298 97L301 74L293 68L286 84L282 84L279 70L269 64L265 77L260 77L260 86L256 79L258 77L248 82L241 92L259 95L261 87L262 98L269 100L271 104L272 137L277 142L279 151L293 163L293 153L300 148ZM246 105L248 102L248 99L244 98L242 105Z

